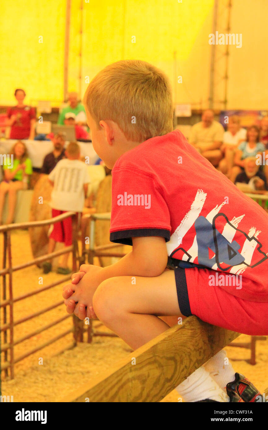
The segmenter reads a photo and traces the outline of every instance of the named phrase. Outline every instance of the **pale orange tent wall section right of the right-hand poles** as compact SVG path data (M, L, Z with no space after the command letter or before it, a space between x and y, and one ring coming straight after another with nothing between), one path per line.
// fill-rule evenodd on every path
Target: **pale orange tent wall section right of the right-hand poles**
M231 33L242 33L242 48L231 47L228 107L268 110L268 0L234 0Z

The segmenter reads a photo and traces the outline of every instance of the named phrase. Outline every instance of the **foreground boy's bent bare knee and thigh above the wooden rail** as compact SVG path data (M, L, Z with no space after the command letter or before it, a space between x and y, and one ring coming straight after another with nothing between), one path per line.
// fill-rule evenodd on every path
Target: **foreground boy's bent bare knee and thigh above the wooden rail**
M182 313L173 270L156 277L136 276L134 285L132 278L117 276L102 282L93 296L93 308L105 326L135 350L169 328L157 316Z

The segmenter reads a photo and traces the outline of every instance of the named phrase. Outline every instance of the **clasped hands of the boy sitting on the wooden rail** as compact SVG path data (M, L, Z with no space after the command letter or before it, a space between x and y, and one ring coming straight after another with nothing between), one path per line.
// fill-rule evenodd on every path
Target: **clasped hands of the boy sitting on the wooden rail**
M62 297L68 313L74 313L79 319L96 319L92 305L93 295L102 282L102 267L82 264L80 270L71 276L71 283L63 287Z

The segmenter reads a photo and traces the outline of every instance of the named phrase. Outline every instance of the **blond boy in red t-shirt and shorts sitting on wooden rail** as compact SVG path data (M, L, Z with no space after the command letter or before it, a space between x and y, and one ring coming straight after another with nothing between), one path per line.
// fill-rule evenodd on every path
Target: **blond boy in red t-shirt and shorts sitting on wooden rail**
M169 328L159 316L267 335L267 214L173 131L163 72L117 61L91 81L84 105L112 169L110 240L132 251L108 267L83 264L64 287L67 312L97 316L134 350ZM222 350L182 382L183 399L254 402L258 390L225 360Z

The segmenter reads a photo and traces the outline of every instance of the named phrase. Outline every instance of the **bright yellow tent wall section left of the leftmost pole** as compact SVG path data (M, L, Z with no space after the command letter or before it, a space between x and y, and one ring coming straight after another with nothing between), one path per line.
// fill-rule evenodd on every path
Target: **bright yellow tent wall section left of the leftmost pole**
M0 103L15 104L23 88L28 103L63 97L65 0L1 1ZM40 36L43 43L39 43Z

